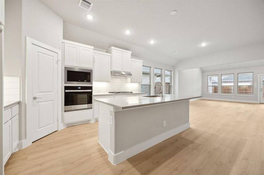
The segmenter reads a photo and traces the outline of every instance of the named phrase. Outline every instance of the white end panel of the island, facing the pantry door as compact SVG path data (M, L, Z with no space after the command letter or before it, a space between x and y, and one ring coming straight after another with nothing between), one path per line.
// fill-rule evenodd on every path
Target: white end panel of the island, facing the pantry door
M99 102L98 142L108 153L110 148L110 112L113 106ZM113 112L112 112L113 113Z

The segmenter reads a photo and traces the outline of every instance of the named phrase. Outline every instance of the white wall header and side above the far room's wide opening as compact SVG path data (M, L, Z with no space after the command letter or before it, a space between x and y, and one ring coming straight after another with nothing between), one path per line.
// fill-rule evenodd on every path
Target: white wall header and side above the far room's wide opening
M264 59L264 43L256 43L179 61L174 66L174 94L179 93L179 70L261 59Z

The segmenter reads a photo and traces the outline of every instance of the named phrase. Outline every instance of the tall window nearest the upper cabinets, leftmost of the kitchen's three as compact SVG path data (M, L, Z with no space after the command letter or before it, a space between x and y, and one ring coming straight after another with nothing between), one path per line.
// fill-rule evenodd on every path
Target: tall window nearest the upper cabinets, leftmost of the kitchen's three
M151 90L151 67L142 66L142 83L141 83L141 92L147 93L150 95Z

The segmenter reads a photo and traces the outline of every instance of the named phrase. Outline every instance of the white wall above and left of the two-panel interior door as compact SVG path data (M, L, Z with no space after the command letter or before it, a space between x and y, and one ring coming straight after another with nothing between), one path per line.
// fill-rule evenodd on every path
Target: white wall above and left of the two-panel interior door
M25 36L62 50L63 20L39 0L5 1L5 76L21 77L19 139L25 139ZM17 11L16 11L17 10ZM22 23L21 23L22 21ZM15 23L15 24L14 24ZM21 26L22 24L22 26ZM14 43L15 45L13 45Z

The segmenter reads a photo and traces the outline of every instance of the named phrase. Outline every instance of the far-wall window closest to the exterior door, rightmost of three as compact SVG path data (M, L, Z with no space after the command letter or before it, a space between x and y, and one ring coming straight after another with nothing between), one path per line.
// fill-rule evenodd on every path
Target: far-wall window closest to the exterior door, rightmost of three
M253 72L237 74L237 94L253 95Z

